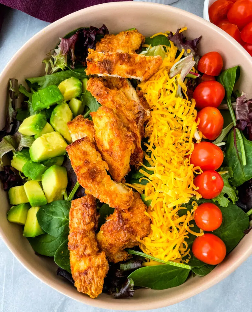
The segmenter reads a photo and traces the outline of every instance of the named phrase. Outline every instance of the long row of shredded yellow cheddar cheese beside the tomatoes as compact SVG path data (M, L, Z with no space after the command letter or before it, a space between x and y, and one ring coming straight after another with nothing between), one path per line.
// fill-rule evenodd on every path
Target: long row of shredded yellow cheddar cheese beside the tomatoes
M140 182L147 180L147 184L131 186L144 193L146 200L151 200L146 212L152 221L151 232L142 240L138 238L142 251L164 261L188 262L188 259L183 260L189 253L185 238L189 233L196 236L203 233L191 230L190 221L194 219L196 202L191 212L187 211L180 217L179 211L185 209L181 205L189 202L192 196L201 197L194 185L194 173L199 173L200 168L193 168L187 157L194 149L194 134L197 133L198 141L201 136L195 121L195 101L188 100L187 88L180 75L169 77L170 68L184 51L176 58L177 48L171 41L166 51L167 57L159 71L138 85L151 107L145 128L145 137L148 138L145 159L151 167L143 166L151 173L140 169L144 175ZM178 85L186 99L175 97Z

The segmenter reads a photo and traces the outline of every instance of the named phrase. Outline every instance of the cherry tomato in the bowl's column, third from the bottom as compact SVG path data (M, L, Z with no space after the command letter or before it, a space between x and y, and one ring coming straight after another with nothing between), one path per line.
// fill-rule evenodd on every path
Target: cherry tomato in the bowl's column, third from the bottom
M194 178L194 185L203 198L212 199L221 193L224 182L217 171L207 170Z

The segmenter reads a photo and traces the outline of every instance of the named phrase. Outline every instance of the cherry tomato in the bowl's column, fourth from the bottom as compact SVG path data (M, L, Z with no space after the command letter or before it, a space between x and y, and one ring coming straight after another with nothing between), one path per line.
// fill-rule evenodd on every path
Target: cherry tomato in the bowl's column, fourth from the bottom
M202 171L217 170L223 163L223 153L219 146L211 142L194 144L190 162L194 167L200 167Z

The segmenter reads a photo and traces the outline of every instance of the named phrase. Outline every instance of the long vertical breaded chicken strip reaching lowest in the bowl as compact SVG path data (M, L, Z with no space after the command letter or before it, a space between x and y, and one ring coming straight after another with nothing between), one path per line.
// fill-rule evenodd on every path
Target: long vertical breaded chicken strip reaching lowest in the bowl
M68 249L74 285L78 291L96 298L103 288L109 264L95 237L99 213L92 195L75 199L69 212Z

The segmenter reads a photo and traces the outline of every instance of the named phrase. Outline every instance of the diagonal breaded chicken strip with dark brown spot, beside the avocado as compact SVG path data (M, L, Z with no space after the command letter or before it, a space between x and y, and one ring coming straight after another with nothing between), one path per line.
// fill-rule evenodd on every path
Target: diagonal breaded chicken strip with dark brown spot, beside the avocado
M66 148L77 180L86 194L91 194L112 208L127 209L133 202L133 191L114 182L107 174L108 165L88 137L78 139Z

